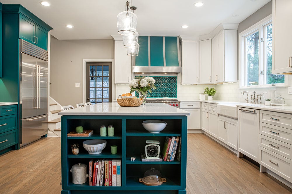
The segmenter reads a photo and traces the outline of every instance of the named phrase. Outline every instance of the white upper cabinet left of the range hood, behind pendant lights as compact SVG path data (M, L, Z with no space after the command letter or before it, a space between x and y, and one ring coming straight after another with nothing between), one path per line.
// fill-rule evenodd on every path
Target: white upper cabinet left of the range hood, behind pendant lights
M114 83L129 83L131 79L131 57L122 40L114 41Z

